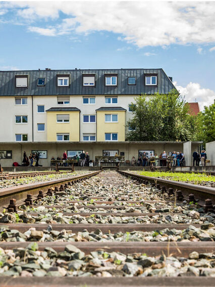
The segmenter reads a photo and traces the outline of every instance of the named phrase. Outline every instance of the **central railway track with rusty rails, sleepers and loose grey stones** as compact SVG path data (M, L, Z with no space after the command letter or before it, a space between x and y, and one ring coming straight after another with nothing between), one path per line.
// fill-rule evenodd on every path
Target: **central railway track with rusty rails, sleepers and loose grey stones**
M186 187L183 199L177 198L165 182L153 186L153 179L128 172L94 172L71 181L52 182L60 188L31 186L25 190L32 194L29 206L18 198L16 213L0 213L0 247L13 250L8 260L16 262L9 268L3 262L0 286L214 285L215 215L202 202L214 190L205 189L203 197L203 189ZM13 197L21 193L23 199L19 188ZM51 194L36 197L41 188Z

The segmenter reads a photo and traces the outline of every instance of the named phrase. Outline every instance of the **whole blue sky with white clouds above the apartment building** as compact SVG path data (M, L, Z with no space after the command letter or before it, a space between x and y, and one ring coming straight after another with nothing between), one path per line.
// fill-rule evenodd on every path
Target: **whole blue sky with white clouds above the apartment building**
M214 13L214 2L1 2L0 69L163 68L203 108L215 97Z

